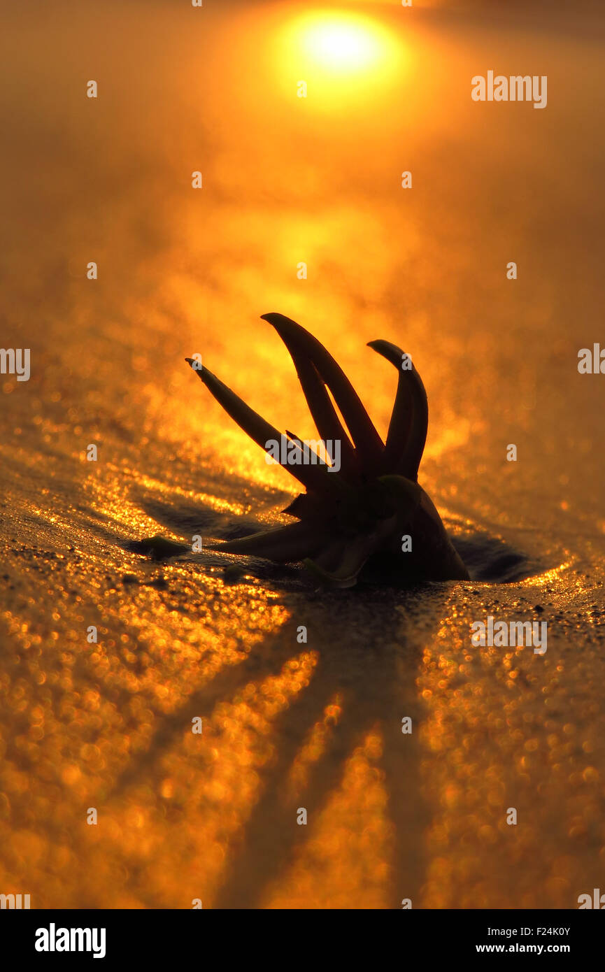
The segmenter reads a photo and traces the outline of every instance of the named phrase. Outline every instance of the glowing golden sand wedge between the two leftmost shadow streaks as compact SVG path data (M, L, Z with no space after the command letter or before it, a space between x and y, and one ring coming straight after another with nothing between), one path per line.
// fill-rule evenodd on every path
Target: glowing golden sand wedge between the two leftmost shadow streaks
M175 900L191 907L195 897L212 905L273 758L273 722L306 688L316 664L316 652L303 652L276 676L220 701L201 736L184 732L152 779L108 808L116 853L129 868L145 868L145 897L159 907L174 907Z

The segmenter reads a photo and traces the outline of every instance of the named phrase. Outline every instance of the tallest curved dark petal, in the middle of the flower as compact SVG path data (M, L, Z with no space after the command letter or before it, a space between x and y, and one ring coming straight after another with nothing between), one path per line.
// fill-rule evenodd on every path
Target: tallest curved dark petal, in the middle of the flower
M290 354L306 355L314 364L320 381L327 385L332 392L342 417L346 422L347 428L359 455L359 463L362 471L371 472L376 464L380 463L384 451L384 444L374 429L372 419L368 415L362 400L344 374L342 368L337 364L332 355L324 348L317 338L309 334L307 330L292 321L283 314L262 314L262 320L267 321L277 331ZM296 365L296 362L295 362ZM308 375L305 375L305 380ZM302 382L303 383L303 382ZM309 386L310 387L310 386ZM315 386L316 387L316 386ZM303 387L304 391L304 387ZM305 393L306 395L306 393ZM330 399L325 396L328 401ZM325 399L324 405L325 405ZM308 401L308 399L307 399ZM317 402L320 403L320 402ZM315 402L313 403L315 406ZM309 408L311 402L309 401ZM334 406L333 406L334 410ZM327 412L325 413L327 417ZM335 412L336 416L336 412ZM315 415L313 415L315 418ZM338 416L336 416L338 420ZM322 415L322 422L324 416ZM331 417L334 423L334 417ZM338 427L341 430L340 423ZM320 432L320 434L322 434ZM334 437L333 435L329 437ZM337 436L338 437L338 436Z

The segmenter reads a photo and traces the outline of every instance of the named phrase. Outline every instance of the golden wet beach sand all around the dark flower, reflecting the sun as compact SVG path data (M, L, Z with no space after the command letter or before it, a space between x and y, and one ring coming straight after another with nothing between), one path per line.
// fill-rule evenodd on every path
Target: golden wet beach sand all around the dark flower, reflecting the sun
M605 863L605 376L577 366L605 344L602 35L580 8L376 4L380 83L308 67L303 99L295 8L7 13L1 343L31 377L1 385L0 891L576 908ZM474 103L492 68L548 75L548 107ZM269 311L383 435L366 343L411 354L419 481L470 582L326 592L132 547L289 522L294 479L184 362L315 437ZM546 621L547 652L474 647L489 615Z

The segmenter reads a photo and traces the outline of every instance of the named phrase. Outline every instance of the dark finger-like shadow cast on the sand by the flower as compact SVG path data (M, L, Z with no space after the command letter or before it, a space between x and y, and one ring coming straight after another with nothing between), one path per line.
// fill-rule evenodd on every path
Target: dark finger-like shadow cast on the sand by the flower
M244 536L258 529L254 521L233 520L229 515L193 505L175 508L155 497L140 496L139 503L157 522L176 536L204 533L215 538ZM157 539L139 541L138 552L166 559L180 550L167 548L165 558L155 556ZM474 579L512 581L528 573L528 561L500 539L487 534L455 538ZM151 543L151 547L150 547ZM131 543L124 544L133 549ZM137 549L134 547L134 549ZM183 544L182 550L188 549ZM353 591L313 590L313 582L298 568L220 553L194 556L189 548L185 562L196 570L243 562L242 573L260 585L279 590L290 611L277 633L255 644L247 658L221 670L213 680L193 693L187 705L165 716L148 750L126 769L112 796L123 793L144 773L161 775L161 757L182 736L183 726L196 715L210 718L215 707L231 699L249 682L277 675L301 649L300 625L307 628L306 648L316 651L318 663L310 684L298 693L272 724L275 752L262 771L261 796L242 824L231 848L228 872L213 907L259 908L267 902L270 888L296 859L308 839L312 823L338 790L345 764L370 730L382 738L380 767L388 794L386 815L393 837L388 901L401 908L403 898L417 898L424 881L423 835L429 822L420 780L418 727L423 703L416 688L423 645L432 642L436 630L451 612L451 598L469 581L431 582L407 590L388 584L378 586L370 572ZM472 581L470 582L472 584ZM368 632L372 632L368 637ZM313 726L324 717L334 697L340 700L341 717L324 751L311 766L303 791L289 797L287 780L297 755ZM402 733L402 718L410 716L413 732ZM304 807L310 826L298 826L297 810ZM352 907L359 907L354 901Z

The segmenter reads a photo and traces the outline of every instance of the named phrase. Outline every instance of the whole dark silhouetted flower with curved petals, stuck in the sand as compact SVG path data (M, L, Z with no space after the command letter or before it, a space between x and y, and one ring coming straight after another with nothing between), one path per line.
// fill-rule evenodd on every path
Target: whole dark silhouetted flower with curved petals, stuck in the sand
M292 449L288 447L280 465L307 490L286 510L298 518L298 524L213 544L214 549L282 564L303 563L315 579L331 588L352 587L367 561L380 557L389 564L395 583L459 579L466 569L434 504L416 481L428 409L424 385L411 359L409 367L402 365L409 356L390 341L368 341L368 347L399 369L389 433L383 444L346 375L317 338L275 311L262 314L261 319L274 327L286 344L318 429L321 426L334 430L335 436L340 434L340 443L336 437L330 442L330 454L337 455L341 446L342 469L338 471L334 461L333 466L326 466L316 449L306 448L304 440L287 432L283 438L289 440ZM265 438L280 434L211 372L205 370L202 377L195 359L185 361L240 428L267 451ZM346 437L328 390L353 443ZM401 543L402 533L411 540L407 547ZM401 552L393 558L393 551Z

